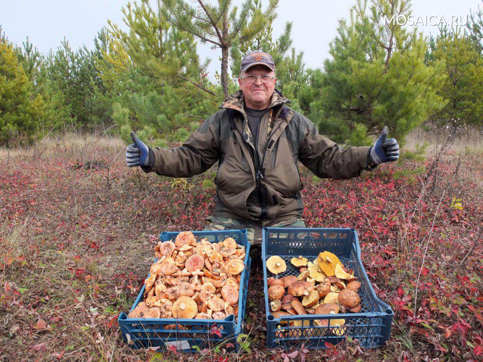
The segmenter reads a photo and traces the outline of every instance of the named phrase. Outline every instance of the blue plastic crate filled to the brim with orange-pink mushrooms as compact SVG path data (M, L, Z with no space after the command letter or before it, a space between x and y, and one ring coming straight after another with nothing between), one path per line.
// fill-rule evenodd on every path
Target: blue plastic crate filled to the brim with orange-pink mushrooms
M177 232L162 232L160 239L167 241L175 239ZM225 319L175 319L175 318L128 318L121 312L118 318L119 326L124 341L132 348L147 348L160 346L162 349L174 346L182 352L196 352L203 348L224 346L225 343L232 343L238 349L236 337L243 331L243 319L245 316L245 305L247 302L248 279L250 276L250 265L252 259L249 256L250 244L247 241L247 231L243 230L221 230L221 231L193 231L197 240L207 238L211 242L218 242L232 237L236 243L246 248L245 269L241 273L240 291L238 302L238 321L235 322L233 314ZM145 286L142 287L139 295L131 308L131 311L143 300ZM169 329L165 326L172 325ZM181 329L185 327L186 329Z

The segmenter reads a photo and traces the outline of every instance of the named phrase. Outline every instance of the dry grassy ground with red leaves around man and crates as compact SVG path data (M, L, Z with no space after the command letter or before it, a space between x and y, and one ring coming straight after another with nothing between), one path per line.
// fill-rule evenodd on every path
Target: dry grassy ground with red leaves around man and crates
M205 225L212 173L185 182L128 169L122 143L109 137L0 150L0 360L480 360L482 147L434 134L425 160L407 153L356 179L302 170L307 226L357 229L373 287L395 316L383 348L348 342L287 354L265 345L257 255L245 318L251 353L131 350L121 339L117 316L142 285L158 233ZM409 148L424 136L413 133Z

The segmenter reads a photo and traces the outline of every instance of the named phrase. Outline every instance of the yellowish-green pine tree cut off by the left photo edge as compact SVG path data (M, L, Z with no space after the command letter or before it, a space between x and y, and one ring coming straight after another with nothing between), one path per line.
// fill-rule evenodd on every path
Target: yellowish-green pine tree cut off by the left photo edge
M13 45L0 39L0 144L16 136L32 139L42 117L42 97L32 94L32 83L18 62Z

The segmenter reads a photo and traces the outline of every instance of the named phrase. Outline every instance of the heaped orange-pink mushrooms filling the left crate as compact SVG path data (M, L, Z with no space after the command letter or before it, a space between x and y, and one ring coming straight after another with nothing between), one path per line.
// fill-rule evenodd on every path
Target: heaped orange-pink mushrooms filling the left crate
M144 300L128 318L224 319L238 314L245 247L228 237L196 241L191 231L155 246ZM170 326L166 326L170 327Z

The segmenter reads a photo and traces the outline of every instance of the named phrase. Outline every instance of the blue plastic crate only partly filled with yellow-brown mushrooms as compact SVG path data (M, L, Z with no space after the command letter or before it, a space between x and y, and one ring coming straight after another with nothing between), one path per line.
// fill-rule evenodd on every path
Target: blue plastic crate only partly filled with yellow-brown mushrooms
M299 270L290 263L294 256L305 256L313 260L324 250L336 254L354 276L361 282L358 290L361 297L360 313L307 314L306 316L283 316L275 318L269 309L267 277L274 276L267 270L266 260L279 255L285 260L287 270L278 275L282 278L299 275ZM263 228L262 261L264 273L265 310L267 312L267 345L274 347L326 348L325 342L339 343L346 336L357 338L364 348L376 348L389 339L393 311L377 298L362 266L361 249L355 229L339 228ZM345 319L344 327L314 325L315 319ZM301 327L289 326L294 320ZM332 326L331 326L332 324Z

